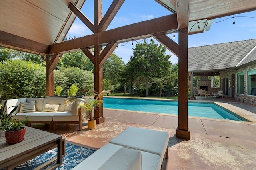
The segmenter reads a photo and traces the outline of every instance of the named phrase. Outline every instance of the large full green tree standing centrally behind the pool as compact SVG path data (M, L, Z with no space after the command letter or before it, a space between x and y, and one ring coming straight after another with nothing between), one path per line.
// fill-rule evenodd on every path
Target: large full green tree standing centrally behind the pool
M162 45L154 43L153 39L150 43L144 40L143 43L137 44L133 49L133 56L130 57L130 65L133 65L136 70L136 76L143 76L146 80L146 96L149 96L149 85L150 81L157 80L158 84L161 84L160 90L162 89L162 81L167 78L171 62L170 55L166 55L166 48ZM129 61L129 62L130 62ZM163 79L163 77L165 77ZM158 79L156 79L158 78Z

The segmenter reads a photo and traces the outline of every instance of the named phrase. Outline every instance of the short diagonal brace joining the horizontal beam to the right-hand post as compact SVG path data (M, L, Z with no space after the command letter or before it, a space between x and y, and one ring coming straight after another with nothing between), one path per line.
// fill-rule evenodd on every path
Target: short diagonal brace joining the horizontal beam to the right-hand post
M152 35L157 41L164 45L164 47L172 51L172 53L174 53L176 56L179 56L179 45L176 42L174 42L164 33L155 33Z

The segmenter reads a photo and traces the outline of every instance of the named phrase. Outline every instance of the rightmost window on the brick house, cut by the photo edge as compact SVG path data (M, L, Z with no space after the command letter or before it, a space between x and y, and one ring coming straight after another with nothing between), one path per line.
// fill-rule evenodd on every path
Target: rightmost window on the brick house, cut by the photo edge
M256 69L247 72L247 94L256 96Z

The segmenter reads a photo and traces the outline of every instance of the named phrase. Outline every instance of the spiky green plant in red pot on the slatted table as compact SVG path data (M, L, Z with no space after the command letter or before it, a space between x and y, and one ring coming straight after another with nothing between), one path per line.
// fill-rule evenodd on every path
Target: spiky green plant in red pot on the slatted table
M14 144L24 140L26 133L26 128L23 127L29 121L28 117L25 117L25 121L20 121L19 119L14 119L13 114L16 111L18 106L11 106L4 111L6 107L7 100L4 102L4 105L0 109L0 130L4 131L6 138L6 143ZM10 114L7 113L7 110L12 108Z

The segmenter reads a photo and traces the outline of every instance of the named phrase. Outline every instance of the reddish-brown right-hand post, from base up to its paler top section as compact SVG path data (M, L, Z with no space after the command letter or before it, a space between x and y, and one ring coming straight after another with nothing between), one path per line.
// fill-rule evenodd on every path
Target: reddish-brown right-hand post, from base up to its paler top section
M178 103L178 138L190 139L188 129L188 27L179 29L179 103Z

